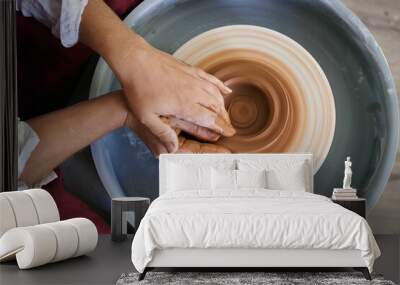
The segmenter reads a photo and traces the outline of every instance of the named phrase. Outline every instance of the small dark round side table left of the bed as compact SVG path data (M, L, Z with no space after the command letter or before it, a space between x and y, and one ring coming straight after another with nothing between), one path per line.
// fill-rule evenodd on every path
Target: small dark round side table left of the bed
M150 205L144 197L113 198L111 202L111 240L123 241L128 234L129 212L135 213L135 232Z

